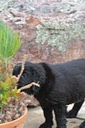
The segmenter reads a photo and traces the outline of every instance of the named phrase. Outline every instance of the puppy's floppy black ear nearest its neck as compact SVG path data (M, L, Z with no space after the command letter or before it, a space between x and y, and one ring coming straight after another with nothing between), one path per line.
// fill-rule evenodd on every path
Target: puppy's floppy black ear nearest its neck
M41 65L36 64L35 66L31 67L31 72L33 76L33 82L39 82L40 85L45 83L46 73Z

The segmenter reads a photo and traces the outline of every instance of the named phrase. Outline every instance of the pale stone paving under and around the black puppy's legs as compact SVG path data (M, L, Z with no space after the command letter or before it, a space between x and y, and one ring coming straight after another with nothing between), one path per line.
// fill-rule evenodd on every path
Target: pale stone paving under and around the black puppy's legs
M71 106L69 106L69 109ZM28 109L28 117L25 122L24 128L38 128L41 123L44 122L43 113L40 107ZM77 118L69 119L67 121L68 128L79 128L79 125L84 121L85 105L79 111ZM56 127L55 121L53 128Z

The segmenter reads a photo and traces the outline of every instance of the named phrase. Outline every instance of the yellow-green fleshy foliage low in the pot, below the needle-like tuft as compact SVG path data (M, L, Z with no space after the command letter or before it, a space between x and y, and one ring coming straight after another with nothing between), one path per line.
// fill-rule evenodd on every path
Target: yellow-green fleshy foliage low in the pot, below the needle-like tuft
M13 76L3 76L0 81L0 109L3 109L12 98L18 98L19 92L16 88L16 78Z

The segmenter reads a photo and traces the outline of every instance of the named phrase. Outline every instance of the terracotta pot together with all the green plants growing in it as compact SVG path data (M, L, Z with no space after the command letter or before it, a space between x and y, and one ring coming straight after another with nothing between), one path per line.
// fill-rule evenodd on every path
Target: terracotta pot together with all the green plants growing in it
M0 21L0 128L22 128L27 116L27 108L16 86L20 76L16 78L11 74L11 59L19 48L18 33Z

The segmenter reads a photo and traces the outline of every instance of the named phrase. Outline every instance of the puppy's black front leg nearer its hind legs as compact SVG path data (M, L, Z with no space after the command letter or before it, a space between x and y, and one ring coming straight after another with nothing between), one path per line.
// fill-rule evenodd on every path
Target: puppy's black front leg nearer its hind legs
M54 113L57 122L57 128L66 128L66 107L62 104L54 106Z

